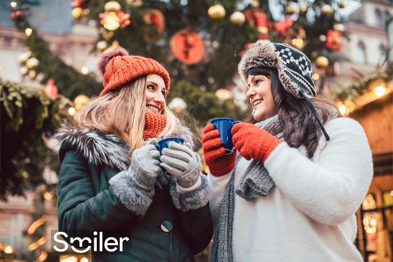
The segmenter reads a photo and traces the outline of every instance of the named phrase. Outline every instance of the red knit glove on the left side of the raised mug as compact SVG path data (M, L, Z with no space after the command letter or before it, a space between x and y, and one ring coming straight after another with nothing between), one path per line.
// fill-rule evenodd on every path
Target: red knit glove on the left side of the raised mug
M205 163L213 176L224 176L235 167L236 149L231 154L224 155L225 149L222 147L220 132L214 129L213 124L208 124L203 129L202 149Z

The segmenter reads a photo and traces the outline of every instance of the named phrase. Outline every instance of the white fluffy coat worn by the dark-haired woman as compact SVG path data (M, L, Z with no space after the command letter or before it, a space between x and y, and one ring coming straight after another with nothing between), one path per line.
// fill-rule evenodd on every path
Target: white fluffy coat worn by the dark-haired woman
M370 147L353 119L333 119L325 129L331 139L321 137L312 160L285 142L270 154L265 167L275 187L268 197L249 203L235 194L234 262L363 261L353 242L355 212L373 177ZM237 164L235 188L249 164ZM208 174L214 226L231 173Z

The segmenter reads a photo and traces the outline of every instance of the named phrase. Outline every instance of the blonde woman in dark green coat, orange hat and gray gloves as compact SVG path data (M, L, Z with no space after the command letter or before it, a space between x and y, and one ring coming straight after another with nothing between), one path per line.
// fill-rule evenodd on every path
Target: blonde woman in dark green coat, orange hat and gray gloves
M166 106L168 72L124 51L104 54L98 66L100 96L75 114L78 127L56 135L59 231L69 243L114 237L109 248L92 241L93 261L194 261L213 234L209 188L193 135ZM171 142L160 156L154 144L168 137L186 143Z

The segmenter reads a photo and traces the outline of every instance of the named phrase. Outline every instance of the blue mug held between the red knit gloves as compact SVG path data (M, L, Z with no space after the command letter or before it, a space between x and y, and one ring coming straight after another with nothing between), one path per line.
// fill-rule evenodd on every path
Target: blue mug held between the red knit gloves
M229 155L233 152L235 147L232 143L232 134L231 130L235 123L242 123L242 121L235 121L230 118L216 118L210 121L214 125L214 129L219 130L220 132L220 139L223 147L225 149L224 155Z

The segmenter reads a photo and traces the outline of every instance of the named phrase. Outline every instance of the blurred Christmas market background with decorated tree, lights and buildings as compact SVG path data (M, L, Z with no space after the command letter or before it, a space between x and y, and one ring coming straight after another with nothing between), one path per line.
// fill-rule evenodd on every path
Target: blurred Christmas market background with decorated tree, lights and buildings
M354 245L364 261L391 261L392 14L391 0L2 0L0 260L90 261L51 251L60 165L50 137L102 90L102 53L123 48L164 65L167 103L197 135L203 160L211 119L250 114L237 64L271 39L305 53L318 92L364 127L374 179ZM209 247L195 258L208 256Z

